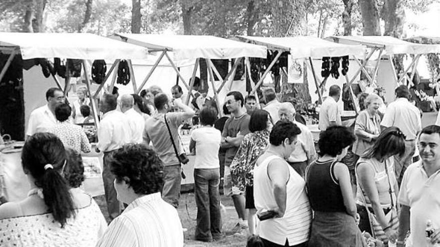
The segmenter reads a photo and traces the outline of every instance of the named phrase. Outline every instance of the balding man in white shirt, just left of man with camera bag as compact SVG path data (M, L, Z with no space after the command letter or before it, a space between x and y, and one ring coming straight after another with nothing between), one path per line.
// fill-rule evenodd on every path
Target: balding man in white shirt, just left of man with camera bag
M134 98L129 94L120 97L120 110L125 114L128 120L127 128L130 128L130 142L137 144L142 143L142 134L145 127L145 120L133 109Z

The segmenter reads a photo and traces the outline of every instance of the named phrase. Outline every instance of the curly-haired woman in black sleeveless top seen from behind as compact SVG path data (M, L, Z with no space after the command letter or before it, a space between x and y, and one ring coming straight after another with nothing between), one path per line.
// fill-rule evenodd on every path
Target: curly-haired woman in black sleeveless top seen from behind
M306 189L314 211L309 246L366 246L356 226L348 168L339 162L354 140L343 126L329 127L319 136L319 158L306 170Z

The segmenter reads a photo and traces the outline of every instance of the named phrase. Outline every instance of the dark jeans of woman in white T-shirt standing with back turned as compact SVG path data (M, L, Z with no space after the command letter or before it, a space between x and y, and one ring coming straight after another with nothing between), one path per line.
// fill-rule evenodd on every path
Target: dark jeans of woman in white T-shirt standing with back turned
M220 172L214 169L194 169L194 194L197 205L195 239L212 241L221 236Z

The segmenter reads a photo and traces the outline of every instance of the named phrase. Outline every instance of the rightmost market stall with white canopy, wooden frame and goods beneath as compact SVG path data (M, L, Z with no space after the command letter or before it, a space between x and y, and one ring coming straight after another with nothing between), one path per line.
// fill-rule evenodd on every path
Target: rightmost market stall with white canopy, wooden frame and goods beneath
M393 99L394 88L396 86L400 84L406 84L408 87L411 86L418 60L422 54L440 52L440 45L437 44L417 44L391 36L330 36L327 39L339 44L361 44L369 49L368 55L363 62L359 59L355 59L356 63L360 66L356 74L360 74L360 72L363 71L370 86L377 87L379 84L384 86L386 91L385 100L388 102ZM393 56L397 54L409 54L411 57L410 64L404 68L403 71L396 71L392 62ZM375 66L373 70L368 71L366 65L368 60L372 57L376 57ZM386 63L388 63L391 70L391 80L393 80L394 83L389 83L388 80L390 78L387 78L386 82L380 82L379 70L384 67L381 64L381 61L384 59L387 59ZM406 78L406 74L409 71L411 71L410 78ZM397 72L401 75L399 78L397 78ZM352 83L353 80L354 79L351 79L350 83ZM404 80L406 83L404 83Z

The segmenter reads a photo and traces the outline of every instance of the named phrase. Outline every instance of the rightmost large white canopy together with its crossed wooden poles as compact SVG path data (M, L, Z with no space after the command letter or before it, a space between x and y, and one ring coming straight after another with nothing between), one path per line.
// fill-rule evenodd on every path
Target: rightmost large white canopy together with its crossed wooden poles
M392 56L395 54L413 55L411 63L406 69L404 69L402 73L402 75L406 75L409 69L411 69L411 77L409 80L407 80L408 86L410 86L420 56L426 53L440 53L439 44L411 43L391 36L330 36L327 39L340 44L362 44L369 48L370 51L362 63L358 59L355 59L356 63L360 66L356 74L359 74L360 71L363 71L368 81L373 85L377 85L377 72L380 59L383 55L388 55L389 57L388 61L391 66L396 85L401 84L406 76L397 78L397 73L395 71L394 64L392 63ZM377 61L372 74L369 74L365 66L374 52L378 52ZM350 83L351 82L352 81L350 81Z

